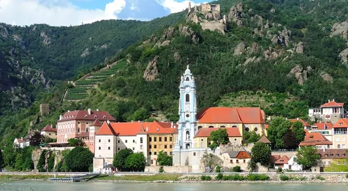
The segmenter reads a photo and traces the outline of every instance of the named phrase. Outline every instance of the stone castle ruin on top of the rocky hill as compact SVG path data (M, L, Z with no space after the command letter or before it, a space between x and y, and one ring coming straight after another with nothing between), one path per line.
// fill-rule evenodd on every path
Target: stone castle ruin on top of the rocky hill
M192 11L191 3L189 3L187 22L200 24L203 30L217 30L223 34L226 31L226 15L221 15L219 4L204 3L194 6Z

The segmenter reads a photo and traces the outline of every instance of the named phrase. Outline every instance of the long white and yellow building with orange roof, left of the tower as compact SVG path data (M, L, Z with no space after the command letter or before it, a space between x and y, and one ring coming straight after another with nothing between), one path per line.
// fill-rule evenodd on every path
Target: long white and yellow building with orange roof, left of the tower
M159 151L172 154L177 140L177 130L165 122L124 122L102 124L95 134L95 171L112 164L113 157L122 149L143 152L147 165L157 165Z

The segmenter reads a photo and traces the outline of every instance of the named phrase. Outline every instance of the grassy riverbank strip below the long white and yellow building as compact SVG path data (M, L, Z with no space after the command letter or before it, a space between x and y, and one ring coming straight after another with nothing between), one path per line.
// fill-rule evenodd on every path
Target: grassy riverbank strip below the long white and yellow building
M124 175L124 176L102 176L95 180L106 181L178 181L180 174L155 174L155 175Z

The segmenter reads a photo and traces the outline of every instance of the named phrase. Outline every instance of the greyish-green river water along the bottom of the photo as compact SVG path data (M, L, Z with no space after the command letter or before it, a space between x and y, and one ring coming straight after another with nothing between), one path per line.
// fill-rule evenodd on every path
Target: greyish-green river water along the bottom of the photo
M345 191L348 184L294 184L294 183L117 183L80 182L64 183L49 181L10 181L0 182L0 190L49 190L49 191Z

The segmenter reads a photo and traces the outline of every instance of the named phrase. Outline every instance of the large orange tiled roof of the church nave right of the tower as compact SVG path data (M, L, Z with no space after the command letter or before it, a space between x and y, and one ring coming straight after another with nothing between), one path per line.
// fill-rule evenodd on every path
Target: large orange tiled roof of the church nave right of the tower
M260 108L205 108L197 119L200 124L264 124Z

